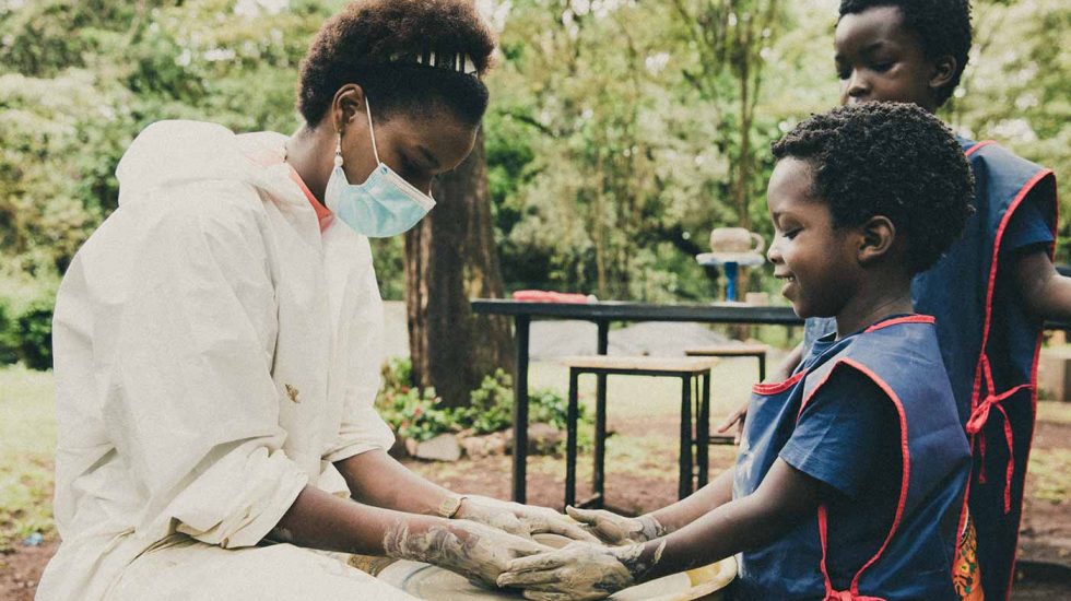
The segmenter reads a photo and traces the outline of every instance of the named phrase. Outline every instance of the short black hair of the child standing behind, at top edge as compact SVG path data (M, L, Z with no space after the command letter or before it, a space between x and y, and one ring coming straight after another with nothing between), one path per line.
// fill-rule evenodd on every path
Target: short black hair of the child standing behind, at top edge
M952 97L970 55L969 0L840 0L840 16L876 7L895 7L904 26L919 37L928 59L951 55L956 59L952 80L938 91L938 106Z

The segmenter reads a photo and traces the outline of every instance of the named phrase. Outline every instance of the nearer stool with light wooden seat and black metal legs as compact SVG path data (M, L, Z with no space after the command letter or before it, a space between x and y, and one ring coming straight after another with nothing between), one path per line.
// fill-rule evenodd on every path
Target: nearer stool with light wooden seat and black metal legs
M710 368L718 360L706 357L616 357L605 355L564 357L561 363L569 368L568 429L565 456L565 504L576 507L602 507L605 484L605 440L607 408L605 399L596 402L595 423L595 470L592 488L595 494L581 503L576 503L576 455L577 422L579 419L578 384L582 374L596 376L656 376L681 378L681 458L678 496L684 498L692 494L693 476L698 486L707 483L710 437ZM694 393L693 393L694 392ZM693 440L693 410L695 437ZM692 447L695 446L695 461ZM698 468L697 474L696 467Z

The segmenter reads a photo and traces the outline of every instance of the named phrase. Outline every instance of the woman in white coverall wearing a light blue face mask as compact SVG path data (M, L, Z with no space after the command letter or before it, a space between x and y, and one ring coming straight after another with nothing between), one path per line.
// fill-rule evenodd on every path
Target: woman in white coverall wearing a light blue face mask
M303 63L293 137L138 137L57 299L63 543L38 599L407 598L311 550L493 584L542 549L527 534L590 538L409 472L373 409L366 237L415 225L469 154L493 49L466 0L353 2Z

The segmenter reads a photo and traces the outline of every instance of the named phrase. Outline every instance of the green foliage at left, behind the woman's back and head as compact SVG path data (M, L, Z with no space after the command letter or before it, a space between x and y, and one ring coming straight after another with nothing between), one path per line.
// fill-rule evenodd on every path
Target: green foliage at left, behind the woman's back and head
M59 279L115 210L134 135L176 118L293 130L298 62L338 4L0 1L0 360L51 364Z

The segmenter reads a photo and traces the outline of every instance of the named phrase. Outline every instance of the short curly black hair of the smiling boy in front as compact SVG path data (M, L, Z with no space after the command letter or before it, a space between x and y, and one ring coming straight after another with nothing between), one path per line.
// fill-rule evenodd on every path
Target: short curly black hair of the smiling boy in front
M835 227L888 217L907 239L913 273L926 271L963 233L974 176L952 131L914 104L863 103L813 115L773 145L778 160L811 165L811 196Z

